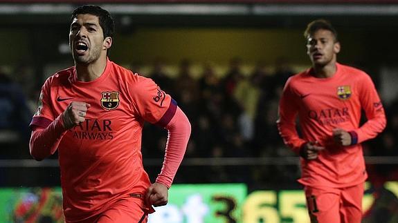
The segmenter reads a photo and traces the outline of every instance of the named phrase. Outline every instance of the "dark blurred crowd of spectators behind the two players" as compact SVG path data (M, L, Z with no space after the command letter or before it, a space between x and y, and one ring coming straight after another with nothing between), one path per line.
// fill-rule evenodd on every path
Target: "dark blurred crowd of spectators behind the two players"
M200 75L192 75L192 61L189 59L180 62L177 73L168 72L165 62L156 59L150 72L141 74L154 79L162 90L172 95L190 119L192 135L186 158L295 156L284 146L275 122L284 83L296 70L284 57L277 59L271 65L272 69L269 69L270 64L259 62L250 72L245 72L243 64L239 58L230 59L226 72L221 75L216 74L212 64L204 64ZM132 64L131 68L141 73L140 66ZM0 159L30 159L28 124L37 108L42 83L35 81L35 76L28 75L28 72L24 66L8 74L0 71ZM398 98L385 107L388 126L377 139L364 144L365 155L398 156L395 137L398 132ZM164 156L166 139L166 130L145 124L144 164L145 159ZM56 155L51 158L56 159ZM159 166L148 168L151 177L159 173ZM192 174L198 173L199 169L206 174ZM370 171L381 172L387 178L395 174L398 179L397 171L391 165L370 166ZM299 175L298 165L203 164L181 166L176 182L264 185L264 182L295 182Z

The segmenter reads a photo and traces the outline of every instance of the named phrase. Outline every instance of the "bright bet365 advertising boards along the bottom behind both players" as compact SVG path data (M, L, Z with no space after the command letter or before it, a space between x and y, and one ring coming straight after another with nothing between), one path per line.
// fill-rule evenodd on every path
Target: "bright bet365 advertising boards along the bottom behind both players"
M363 222L398 222L398 182L366 184ZM309 222L301 190L248 193L245 184L179 184L149 223ZM380 221L380 216L383 220ZM0 222L64 222L60 188L0 188Z

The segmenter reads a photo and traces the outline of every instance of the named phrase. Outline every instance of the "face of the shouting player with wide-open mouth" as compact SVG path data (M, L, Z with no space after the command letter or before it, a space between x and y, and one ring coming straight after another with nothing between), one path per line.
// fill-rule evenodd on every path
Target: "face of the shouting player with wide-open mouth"
M77 64L90 64L107 56L111 37L104 38L98 17L93 14L78 14L71 23L69 45Z

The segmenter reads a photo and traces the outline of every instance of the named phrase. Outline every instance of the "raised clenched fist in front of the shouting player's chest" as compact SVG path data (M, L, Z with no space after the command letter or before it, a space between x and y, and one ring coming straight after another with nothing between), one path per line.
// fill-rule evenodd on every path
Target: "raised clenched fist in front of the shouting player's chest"
M81 122L84 122L87 110L90 108L90 104L82 101L72 101L71 104L62 113L62 119L64 120L64 127L66 129L73 128Z

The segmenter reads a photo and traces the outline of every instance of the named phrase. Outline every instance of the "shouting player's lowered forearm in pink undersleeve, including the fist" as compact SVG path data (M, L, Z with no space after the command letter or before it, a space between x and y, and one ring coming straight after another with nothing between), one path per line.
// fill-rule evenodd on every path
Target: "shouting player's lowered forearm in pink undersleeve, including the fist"
M156 182L148 188L147 203L161 206L168 203L168 188L172 185L174 176L186 152L191 126L188 117L177 106L174 116L165 126L168 130L168 141L165 148L165 158L161 173Z

